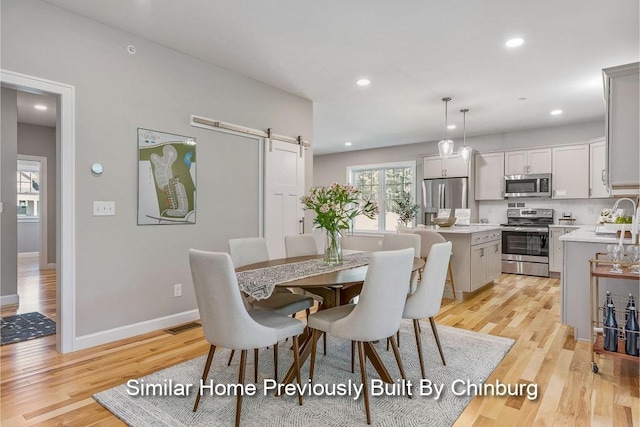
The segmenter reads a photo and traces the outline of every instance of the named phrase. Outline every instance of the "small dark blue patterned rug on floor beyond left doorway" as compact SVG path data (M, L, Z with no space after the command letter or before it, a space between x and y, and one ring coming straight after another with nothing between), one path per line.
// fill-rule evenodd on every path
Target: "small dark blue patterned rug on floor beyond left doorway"
M0 319L0 345L46 337L56 333L56 322L38 312Z

